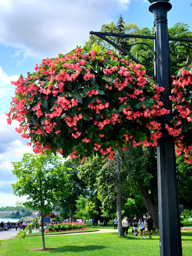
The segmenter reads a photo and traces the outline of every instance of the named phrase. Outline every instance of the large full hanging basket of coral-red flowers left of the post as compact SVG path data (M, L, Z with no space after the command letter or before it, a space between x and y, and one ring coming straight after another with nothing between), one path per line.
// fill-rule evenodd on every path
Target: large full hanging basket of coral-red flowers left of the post
M94 154L113 159L128 143L156 146L158 118L168 114L164 90L118 51L93 45L46 58L18 81L8 116L34 153L56 152L81 162Z

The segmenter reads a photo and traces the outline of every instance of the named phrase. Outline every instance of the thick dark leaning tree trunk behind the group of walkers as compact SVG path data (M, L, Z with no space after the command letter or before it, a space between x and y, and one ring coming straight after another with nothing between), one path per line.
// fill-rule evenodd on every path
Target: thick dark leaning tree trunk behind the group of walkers
M140 189L140 194L147 208L148 214L151 214L152 219L154 220L154 228L159 229L158 200L153 200L153 198L155 197L155 191L151 191L151 194L149 194L148 188L146 186L141 186L140 183L138 183L138 186Z

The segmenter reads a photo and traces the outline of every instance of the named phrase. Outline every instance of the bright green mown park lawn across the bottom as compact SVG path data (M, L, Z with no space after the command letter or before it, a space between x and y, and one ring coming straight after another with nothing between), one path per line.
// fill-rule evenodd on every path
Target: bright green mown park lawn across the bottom
M192 231L183 230L183 256L191 256ZM146 234L147 235L147 234ZM147 236L146 236L147 237ZM128 236L118 237L117 233L93 233L67 236L46 236L46 247L58 247L56 250L31 251L42 247L41 236L23 239L9 239L0 245L1 256L159 256L159 235L154 233L152 239L135 238L131 232Z

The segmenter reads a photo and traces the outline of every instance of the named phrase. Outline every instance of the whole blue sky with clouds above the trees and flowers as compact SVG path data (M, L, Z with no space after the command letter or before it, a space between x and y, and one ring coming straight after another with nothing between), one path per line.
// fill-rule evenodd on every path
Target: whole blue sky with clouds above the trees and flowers
M184 22L192 31L192 0L170 3L168 26ZM149 6L148 0L0 0L0 207L19 200L12 195L11 161L32 152L15 131L17 124L6 124L4 113L9 112L14 95L10 81L32 72L43 58L82 46L91 30L99 31L112 20L117 23L120 15L125 23L152 28Z

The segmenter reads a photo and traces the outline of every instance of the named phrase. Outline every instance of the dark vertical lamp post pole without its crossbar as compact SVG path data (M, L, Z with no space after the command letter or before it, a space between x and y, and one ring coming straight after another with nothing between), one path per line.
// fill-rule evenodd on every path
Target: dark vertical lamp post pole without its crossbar
M170 55L167 12L172 8L169 0L149 0L149 11L154 13L155 32L155 76L157 83L164 87L163 103L172 109L169 95ZM171 114L161 119L162 137L157 144L157 172L159 198L160 256L182 256L177 176L175 168L174 140L168 134L165 123Z

